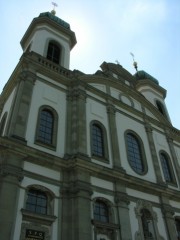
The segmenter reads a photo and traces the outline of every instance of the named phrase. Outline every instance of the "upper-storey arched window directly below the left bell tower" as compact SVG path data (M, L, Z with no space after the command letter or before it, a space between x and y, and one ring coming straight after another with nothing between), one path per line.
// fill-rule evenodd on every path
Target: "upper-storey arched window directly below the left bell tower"
M58 115L49 106L42 106L38 114L36 143L56 146Z

